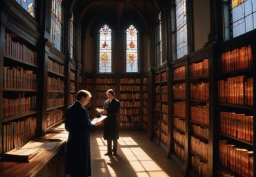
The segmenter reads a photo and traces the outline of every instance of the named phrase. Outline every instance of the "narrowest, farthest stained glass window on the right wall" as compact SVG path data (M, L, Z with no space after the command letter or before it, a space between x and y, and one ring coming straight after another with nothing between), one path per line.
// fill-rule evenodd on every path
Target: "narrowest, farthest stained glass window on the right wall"
M158 14L157 18L157 44L156 44L156 50L157 50L157 56L156 56L156 65L159 66L162 64L162 21L161 21L161 12Z

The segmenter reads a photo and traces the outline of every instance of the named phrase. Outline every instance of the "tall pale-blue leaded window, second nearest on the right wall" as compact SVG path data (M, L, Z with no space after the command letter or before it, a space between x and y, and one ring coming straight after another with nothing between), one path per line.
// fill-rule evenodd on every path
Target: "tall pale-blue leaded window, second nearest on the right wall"
M176 0L176 59L187 55L186 0Z

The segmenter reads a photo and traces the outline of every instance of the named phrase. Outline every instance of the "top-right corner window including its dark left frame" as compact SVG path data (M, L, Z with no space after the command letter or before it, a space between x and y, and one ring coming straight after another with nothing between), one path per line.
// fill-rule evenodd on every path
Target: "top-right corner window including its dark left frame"
M223 19L224 40L256 29L256 1L223 0Z

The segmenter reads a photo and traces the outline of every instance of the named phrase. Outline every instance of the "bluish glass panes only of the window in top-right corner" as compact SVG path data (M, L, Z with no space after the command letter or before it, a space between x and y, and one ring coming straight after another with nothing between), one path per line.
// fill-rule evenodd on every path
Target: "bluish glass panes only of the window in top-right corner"
M256 0L232 0L230 6L233 38L256 29Z

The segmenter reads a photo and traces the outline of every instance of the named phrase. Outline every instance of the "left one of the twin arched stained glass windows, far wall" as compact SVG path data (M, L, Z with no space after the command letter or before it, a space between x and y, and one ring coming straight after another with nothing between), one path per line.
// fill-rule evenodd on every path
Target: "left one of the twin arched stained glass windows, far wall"
M103 25L99 31L99 72L112 72L112 31Z

